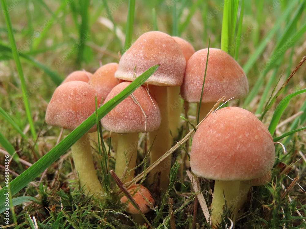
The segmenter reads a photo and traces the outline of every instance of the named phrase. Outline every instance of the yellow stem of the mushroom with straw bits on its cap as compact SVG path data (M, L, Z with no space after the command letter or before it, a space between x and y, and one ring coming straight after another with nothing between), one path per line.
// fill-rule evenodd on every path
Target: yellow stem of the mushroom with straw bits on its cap
M115 171L124 182L129 182L134 177L134 170L130 175L127 172L136 166L138 137L138 133L118 134Z

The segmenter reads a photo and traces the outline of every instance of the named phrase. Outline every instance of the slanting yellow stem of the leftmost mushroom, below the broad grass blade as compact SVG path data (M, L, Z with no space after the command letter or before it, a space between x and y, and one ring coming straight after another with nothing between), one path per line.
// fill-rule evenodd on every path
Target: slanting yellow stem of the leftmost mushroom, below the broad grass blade
M85 192L91 194L103 192L103 188L98 179L95 165L92 160L89 137L84 134L71 147L74 166L80 177L81 186L85 185Z

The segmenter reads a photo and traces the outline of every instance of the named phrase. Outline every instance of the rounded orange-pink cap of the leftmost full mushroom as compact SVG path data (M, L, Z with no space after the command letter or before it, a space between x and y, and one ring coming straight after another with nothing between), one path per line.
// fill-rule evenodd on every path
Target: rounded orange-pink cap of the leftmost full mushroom
M95 89L83 81L58 86L46 111L48 125L73 130L95 112ZM89 132L95 132L96 125Z

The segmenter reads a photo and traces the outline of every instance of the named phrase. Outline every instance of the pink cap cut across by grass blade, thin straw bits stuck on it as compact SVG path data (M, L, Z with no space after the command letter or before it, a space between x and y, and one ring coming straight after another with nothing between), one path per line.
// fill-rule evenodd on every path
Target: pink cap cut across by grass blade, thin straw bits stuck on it
M106 97L105 103L130 83L122 82L115 86ZM159 128L160 110L153 96L149 95L144 86L137 88L132 95L135 101L128 96L102 118L101 122L105 129L115 133L146 133Z

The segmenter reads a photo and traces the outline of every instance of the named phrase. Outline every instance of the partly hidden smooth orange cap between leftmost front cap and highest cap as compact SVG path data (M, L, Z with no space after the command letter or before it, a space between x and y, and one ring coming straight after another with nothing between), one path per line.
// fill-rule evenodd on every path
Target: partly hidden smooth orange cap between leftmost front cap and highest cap
M110 91L119 84L119 80L115 78L115 72L118 69L117 63L110 63L100 67L89 80L97 91L97 97L99 103L101 99L105 100Z

